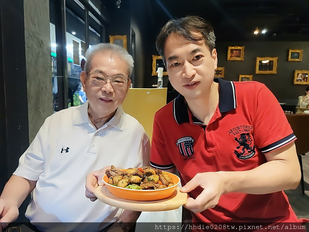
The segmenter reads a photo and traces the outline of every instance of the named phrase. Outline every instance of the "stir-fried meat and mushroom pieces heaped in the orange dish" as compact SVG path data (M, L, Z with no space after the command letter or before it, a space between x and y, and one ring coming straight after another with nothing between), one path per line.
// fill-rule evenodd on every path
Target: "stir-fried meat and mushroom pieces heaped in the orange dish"
M105 174L108 177L109 184L121 188L153 190L175 185L173 179L167 173L149 166L116 170L115 166L112 165L110 169L106 170Z

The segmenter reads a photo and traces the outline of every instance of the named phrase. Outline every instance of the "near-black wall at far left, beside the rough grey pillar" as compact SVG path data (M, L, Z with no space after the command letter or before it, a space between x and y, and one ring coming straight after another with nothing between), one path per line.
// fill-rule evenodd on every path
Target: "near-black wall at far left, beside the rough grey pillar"
M23 1L0 1L0 193L29 146L23 16ZM28 202L20 206L17 222L27 221Z

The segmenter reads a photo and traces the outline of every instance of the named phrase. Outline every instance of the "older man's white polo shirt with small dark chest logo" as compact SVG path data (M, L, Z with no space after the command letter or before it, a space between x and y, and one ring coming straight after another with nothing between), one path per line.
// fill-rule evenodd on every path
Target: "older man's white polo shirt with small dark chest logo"
M119 107L97 130L89 120L88 104L46 118L19 159L13 174L37 180L25 214L33 224L116 221L122 209L86 198L86 175L108 165L129 168L149 164L149 138L135 118ZM42 228L46 224L37 227L47 231Z

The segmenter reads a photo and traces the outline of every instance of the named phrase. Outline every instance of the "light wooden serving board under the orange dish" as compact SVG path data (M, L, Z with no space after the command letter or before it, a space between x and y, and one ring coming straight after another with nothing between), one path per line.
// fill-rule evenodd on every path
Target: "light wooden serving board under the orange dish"
M146 191L146 190L145 190ZM133 211L155 212L178 209L187 203L188 195L179 191L179 187L173 195L158 201L133 201L116 197L110 193L106 186L99 186L94 192L95 196L105 204Z

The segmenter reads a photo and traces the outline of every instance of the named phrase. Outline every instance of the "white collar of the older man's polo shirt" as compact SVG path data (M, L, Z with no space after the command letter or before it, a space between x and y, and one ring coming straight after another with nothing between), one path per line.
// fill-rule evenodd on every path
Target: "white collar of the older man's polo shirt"
M80 124L90 122L90 119L88 116L88 106L89 106L89 101L86 101L83 105L81 105L80 107L77 107L78 113L73 114L73 118L72 118L73 125L77 126ZM122 107L119 106L114 116L106 124L109 124L112 127L115 127L116 129L122 131L125 126L125 117L123 117L124 114L125 112L122 110Z

